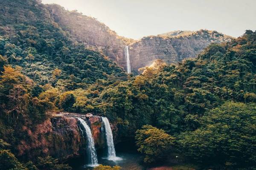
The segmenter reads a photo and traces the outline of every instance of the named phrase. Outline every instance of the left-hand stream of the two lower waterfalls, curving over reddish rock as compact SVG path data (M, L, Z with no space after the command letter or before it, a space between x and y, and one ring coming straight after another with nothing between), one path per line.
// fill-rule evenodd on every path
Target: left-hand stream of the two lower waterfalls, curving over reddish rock
M81 118L77 118L79 120L79 122L81 123L81 125L83 125L85 133L86 133L86 138L87 138L87 155L89 157L89 164L88 166L90 167L95 167L98 165L98 159L97 159L97 153L96 153L96 149L94 146L94 140L93 140L93 135L92 132L90 130L90 127L87 125L87 123L81 119Z

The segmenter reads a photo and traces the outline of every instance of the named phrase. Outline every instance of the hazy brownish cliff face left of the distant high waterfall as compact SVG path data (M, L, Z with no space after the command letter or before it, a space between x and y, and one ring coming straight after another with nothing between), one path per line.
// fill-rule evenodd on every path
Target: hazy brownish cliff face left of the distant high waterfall
M48 9L55 22L62 29L70 32L73 42L79 42L87 48L98 50L120 65L125 64L123 56L125 42L122 40L124 37L118 36L93 17L87 17L76 11L66 11L56 4L48 5Z

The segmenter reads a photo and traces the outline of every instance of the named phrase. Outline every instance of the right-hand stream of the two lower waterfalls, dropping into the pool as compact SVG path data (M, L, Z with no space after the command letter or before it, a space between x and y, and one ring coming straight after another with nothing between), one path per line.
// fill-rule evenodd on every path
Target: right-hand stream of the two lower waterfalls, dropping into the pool
M116 157L116 150L113 142L113 134L112 134L112 130L111 130L108 118L102 117L102 122L105 127L106 141L108 145L108 160L112 160L112 161L120 160L121 158Z

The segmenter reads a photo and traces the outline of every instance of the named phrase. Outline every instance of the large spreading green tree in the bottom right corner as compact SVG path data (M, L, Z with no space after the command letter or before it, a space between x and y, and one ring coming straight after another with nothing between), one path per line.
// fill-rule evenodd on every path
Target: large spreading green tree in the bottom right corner
M256 164L256 105L226 102L200 119L201 127L180 134L183 153L204 164L250 167Z

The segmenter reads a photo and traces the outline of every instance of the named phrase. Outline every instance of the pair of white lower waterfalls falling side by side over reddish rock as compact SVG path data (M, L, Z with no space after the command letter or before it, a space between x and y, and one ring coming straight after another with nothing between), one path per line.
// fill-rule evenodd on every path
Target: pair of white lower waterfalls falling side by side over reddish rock
M86 133L86 139L87 139L87 156L88 156L88 161L89 164L87 164L88 167L95 167L98 164L98 158L97 158L97 153L96 149L94 146L94 140L92 136L92 132L90 127L87 125L87 123L84 121L84 119L77 118L81 125L83 126L83 132ZM115 150L115 145L113 142L113 134L111 130L110 123L108 121L108 118L102 117L102 122L104 125L104 130L105 130L105 136L106 136L106 142L107 142L107 147L108 147L108 160L111 161L118 161L121 160L121 158L116 157L116 150Z

